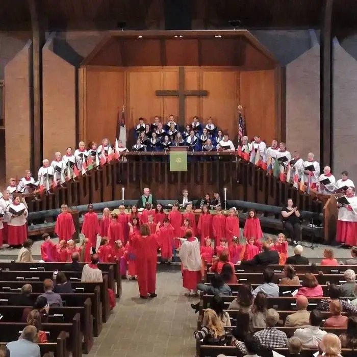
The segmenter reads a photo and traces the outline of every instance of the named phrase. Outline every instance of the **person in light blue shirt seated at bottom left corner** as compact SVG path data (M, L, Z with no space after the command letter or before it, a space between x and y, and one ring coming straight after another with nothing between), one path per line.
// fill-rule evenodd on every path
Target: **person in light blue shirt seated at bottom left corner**
M41 351L37 344L37 328L26 326L17 341L9 342L6 347L10 356L14 357L40 357Z

